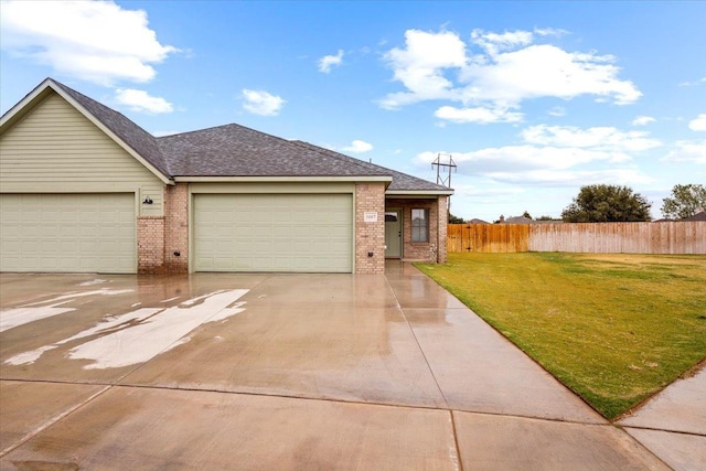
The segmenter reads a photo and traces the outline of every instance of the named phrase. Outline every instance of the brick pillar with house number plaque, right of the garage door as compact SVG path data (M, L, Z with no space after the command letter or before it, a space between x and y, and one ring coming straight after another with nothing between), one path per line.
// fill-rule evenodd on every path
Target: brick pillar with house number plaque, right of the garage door
M364 214L377 213L376 223L364 222ZM370 257L368 253L373 253ZM355 185L355 272L385 272L385 184Z

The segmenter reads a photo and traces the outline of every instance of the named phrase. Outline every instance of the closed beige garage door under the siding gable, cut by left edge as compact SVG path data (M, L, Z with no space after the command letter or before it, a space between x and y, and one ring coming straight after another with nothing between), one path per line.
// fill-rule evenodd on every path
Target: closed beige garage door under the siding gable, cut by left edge
M133 274L135 194L0 194L0 270Z

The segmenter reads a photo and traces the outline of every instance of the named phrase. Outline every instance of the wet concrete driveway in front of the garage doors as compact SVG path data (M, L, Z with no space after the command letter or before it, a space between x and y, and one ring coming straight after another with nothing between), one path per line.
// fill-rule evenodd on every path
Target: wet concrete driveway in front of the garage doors
M0 275L0 469L668 469L447 291Z

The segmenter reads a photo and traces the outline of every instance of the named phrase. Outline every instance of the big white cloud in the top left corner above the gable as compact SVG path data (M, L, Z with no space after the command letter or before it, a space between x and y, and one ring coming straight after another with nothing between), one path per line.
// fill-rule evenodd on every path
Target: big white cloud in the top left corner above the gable
M113 85L149 82L179 50L162 45L143 10L111 1L3 1L2 49L72 77Z

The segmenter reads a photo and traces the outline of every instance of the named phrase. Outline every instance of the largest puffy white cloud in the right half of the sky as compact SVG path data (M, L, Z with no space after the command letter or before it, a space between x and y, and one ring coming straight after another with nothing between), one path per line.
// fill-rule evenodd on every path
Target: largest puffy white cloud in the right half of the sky
M559 34L538 30L543 39ZM406 90L386 95L379 105L396 109L431 99L461 101L482 108L516 108L522 101L592 95L617 105L642 96L632 82L618 78L620 68L611 55L567 52L552 44L534 44L528 31L504 33L474 30L470 46L457 33L408 30L405 47L385 54L394 79Z

